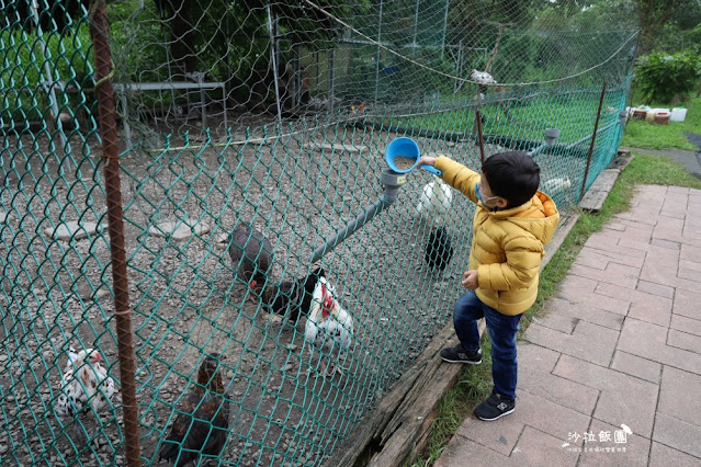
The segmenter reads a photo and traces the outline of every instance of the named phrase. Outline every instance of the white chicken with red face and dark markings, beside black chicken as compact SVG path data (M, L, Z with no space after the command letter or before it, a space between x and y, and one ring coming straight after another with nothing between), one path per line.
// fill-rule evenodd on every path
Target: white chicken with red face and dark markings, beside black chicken
M314 350L318 349L324 358L324 353L338 352L340 361L353 339L353 318L336 299L335 291L326 277L319 277L312 296L312 311L307 319L304 338L312 344L313 354ZM346 368L337 367L330 362L325 375L332 376L333 373L342 375L342 369Z

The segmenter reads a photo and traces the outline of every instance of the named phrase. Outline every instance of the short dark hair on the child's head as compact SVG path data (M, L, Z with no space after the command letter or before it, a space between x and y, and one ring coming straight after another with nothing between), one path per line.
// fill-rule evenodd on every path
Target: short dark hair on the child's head
M501 196L509 205L520 206L533 197L541 182L541 168L523 151L499 152L482 164L495 196Z

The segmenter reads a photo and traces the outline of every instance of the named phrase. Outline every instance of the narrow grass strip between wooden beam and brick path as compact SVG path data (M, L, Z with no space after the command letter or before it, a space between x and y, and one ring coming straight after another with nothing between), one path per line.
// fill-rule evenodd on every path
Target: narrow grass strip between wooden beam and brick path
M575 227L543 270L538 300L523 316L519 338L528 329L533 317L543 314L543 305L556 292L557 284L565 277L591 234L601 230L613 215L627 210L635 185L638 184L675 185L701 190L701 180L687 172L682 166L664 158L637 155L617 180L601 212L599 214L581 213ZM439 415L433 423L427 448L411 464L414 467L432 465L440 457L457 428L470 417L472 409L491 391L489 351L490 344L487 339L483 345L482 365L466 365L455 387L439 402Z

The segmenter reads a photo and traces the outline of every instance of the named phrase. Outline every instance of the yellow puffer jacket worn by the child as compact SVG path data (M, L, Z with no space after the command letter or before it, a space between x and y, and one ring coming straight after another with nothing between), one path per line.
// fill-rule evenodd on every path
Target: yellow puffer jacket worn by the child
M475 195L477 172L444 156L436 168L443 171L445 182L477 203L468 266L477 270L477 297L505 315L525 311L538 297L543 246L559 221L555 203L539 191L520 206L493 212Z

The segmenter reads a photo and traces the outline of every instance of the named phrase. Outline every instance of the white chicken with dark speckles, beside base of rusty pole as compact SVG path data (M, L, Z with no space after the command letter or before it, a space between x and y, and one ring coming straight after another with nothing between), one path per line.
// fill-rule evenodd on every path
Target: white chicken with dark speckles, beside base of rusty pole
M115 392L114 379L108 376L99 351L87 349L76 352L74 348L68 350L68 363L61 375L61 389L56 402L56 413L61 419L76 417L91 411L97 421L100 421L100 411L112 402ZM92 409L92 410L91 410ZM80 424L76 424L76 434L83 437ZM97 426L90 433L90 437L97 434Z

